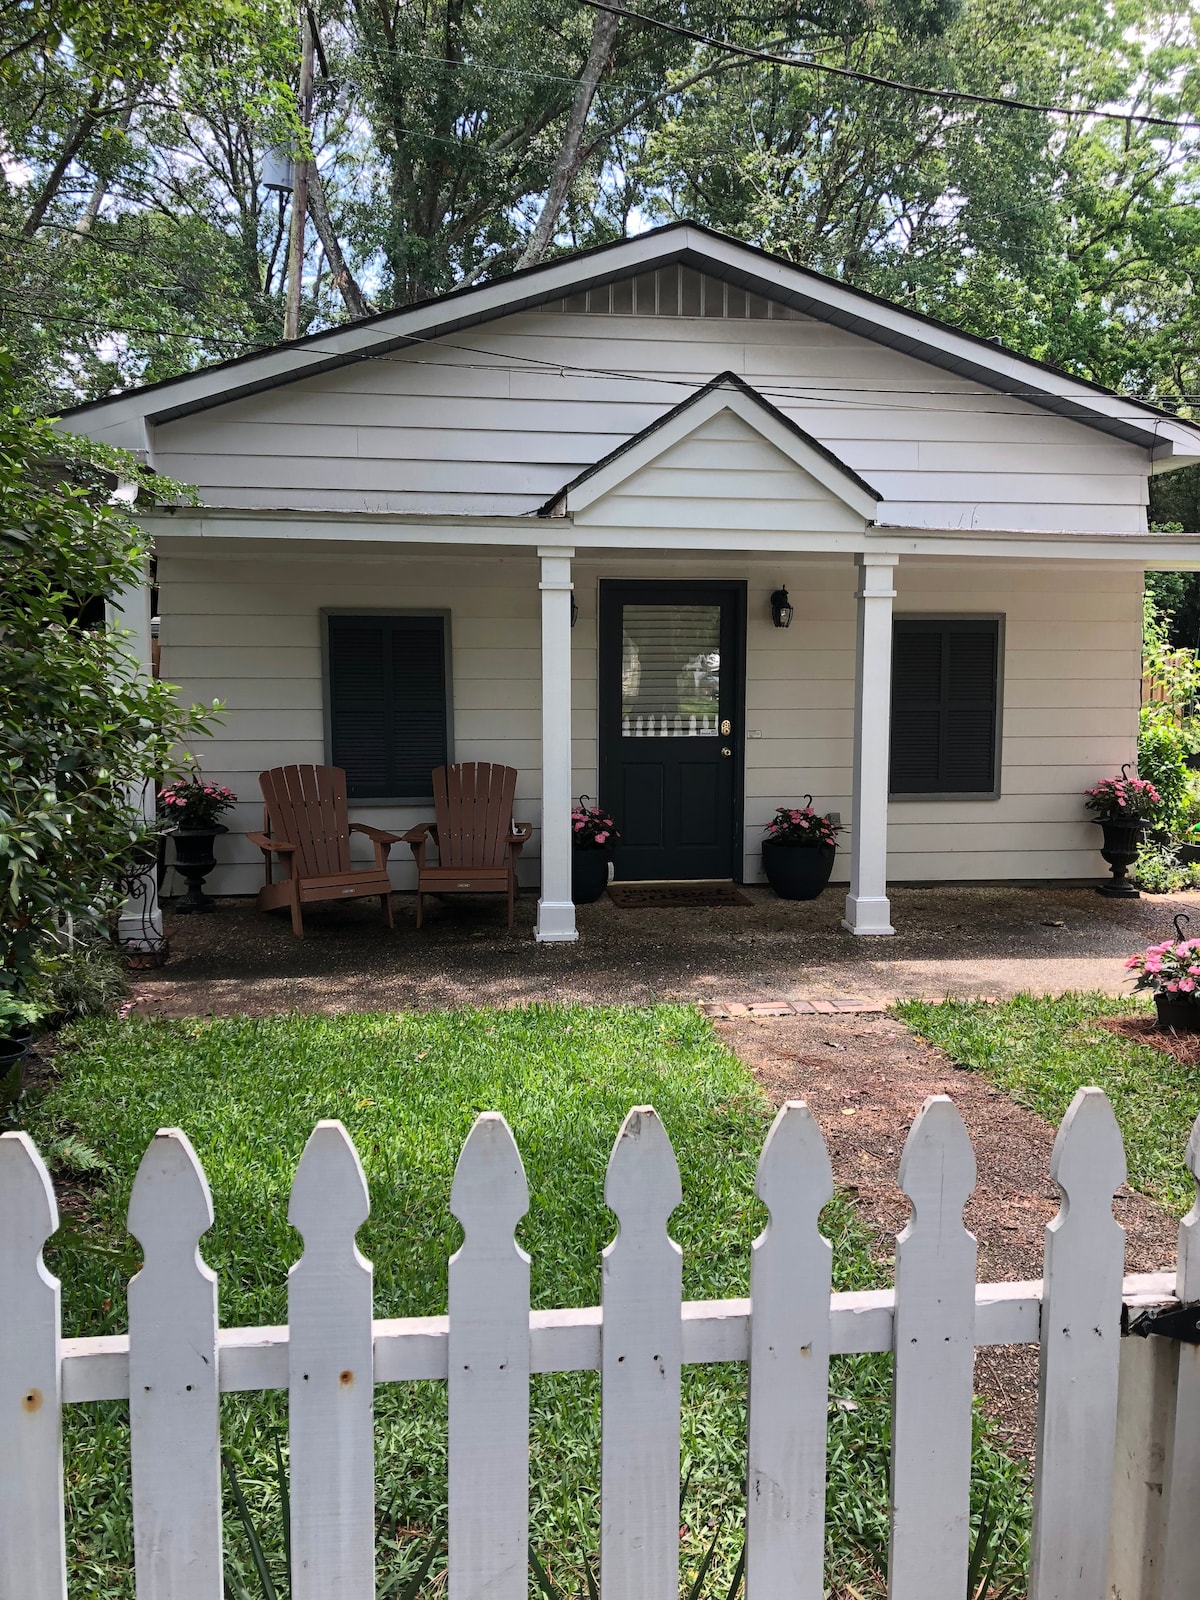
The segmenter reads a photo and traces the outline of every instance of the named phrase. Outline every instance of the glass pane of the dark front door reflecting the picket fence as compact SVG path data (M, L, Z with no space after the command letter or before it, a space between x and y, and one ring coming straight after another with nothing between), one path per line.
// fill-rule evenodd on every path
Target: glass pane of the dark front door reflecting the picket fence
M621 733L627 739L715 739L720 723L718 605L626 605Z

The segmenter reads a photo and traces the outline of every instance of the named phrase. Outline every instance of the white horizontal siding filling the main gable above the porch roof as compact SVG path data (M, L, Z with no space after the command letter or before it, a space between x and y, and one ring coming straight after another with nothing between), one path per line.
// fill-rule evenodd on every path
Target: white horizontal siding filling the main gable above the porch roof
M522 312L160 424L155 462L216 506L520 515L725 370L874 483L883 523L1144 528L1139 448L813 320ZM658 499L619 526L659 526Z

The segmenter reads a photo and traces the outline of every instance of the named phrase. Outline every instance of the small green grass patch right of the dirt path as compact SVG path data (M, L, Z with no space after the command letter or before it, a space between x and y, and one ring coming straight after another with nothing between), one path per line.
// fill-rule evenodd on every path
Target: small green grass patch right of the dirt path
M922 1038L982 1072L1054 1126L1075 1090L1090 1083L1102 1088L1125 1139L1131 1187L1182 1216L1195 1198L1184 1150L1200 1115L1200 1070L1093 1026L1101 1016L1144 1011L1144 1002L1099 994L896 1006L896 1016Z

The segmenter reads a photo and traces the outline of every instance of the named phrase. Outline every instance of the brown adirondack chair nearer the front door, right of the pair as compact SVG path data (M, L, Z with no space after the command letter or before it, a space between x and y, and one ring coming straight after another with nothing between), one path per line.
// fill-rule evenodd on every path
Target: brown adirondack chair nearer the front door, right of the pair
M533 835L533 822L512 821L517 768L461 762L434 770L437 822L421 822L405 834L416 856L416 925L424 918L426 894L509 896L509 926L517 898L517 858ZM426 861L434 840L438 864Z

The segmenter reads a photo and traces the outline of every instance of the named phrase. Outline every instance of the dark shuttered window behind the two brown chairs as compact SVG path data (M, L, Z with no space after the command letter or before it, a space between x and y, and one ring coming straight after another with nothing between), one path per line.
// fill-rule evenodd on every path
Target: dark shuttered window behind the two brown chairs
M326 616L330 760L350 800L430 800L450 760L443 614Z

